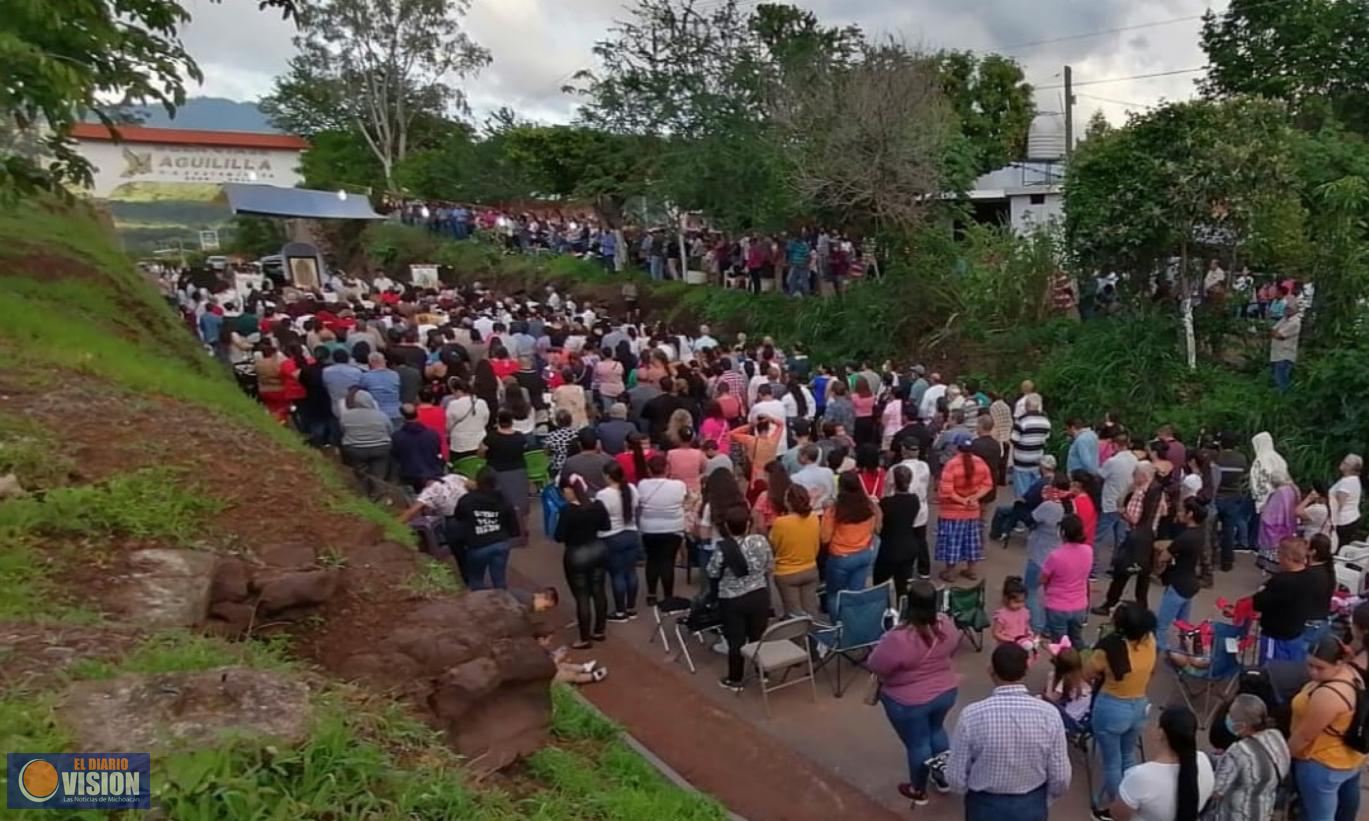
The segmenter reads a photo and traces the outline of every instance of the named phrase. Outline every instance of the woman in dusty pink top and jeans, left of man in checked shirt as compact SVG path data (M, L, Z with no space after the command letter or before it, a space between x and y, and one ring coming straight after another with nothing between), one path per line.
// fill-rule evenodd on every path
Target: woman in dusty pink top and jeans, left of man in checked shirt
M931 773L923 762L950 748L945 724L960 684L950 664L958 644L956 624L936 609L936 588L916 580L908 586L904 624L884 634L865 660L879 677L884 714L908 751L908 783L898 792L913 805L927 803Z

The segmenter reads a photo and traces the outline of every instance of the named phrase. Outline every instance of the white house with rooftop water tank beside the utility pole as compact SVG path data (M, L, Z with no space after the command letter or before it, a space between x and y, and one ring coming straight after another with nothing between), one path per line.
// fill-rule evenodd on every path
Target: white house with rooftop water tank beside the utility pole
M1038 114L1027 133L1027 159L1009 163L975 181L969 198L977 222L1032 226L1065 216L1065 120Z

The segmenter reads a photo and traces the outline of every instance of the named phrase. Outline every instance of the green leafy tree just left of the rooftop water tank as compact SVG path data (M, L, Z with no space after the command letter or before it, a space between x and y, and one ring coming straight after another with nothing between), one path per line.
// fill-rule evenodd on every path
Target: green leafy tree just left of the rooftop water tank
M1017 60L946 51L935 55L935 63L979 172L1023 159L1036 103Z

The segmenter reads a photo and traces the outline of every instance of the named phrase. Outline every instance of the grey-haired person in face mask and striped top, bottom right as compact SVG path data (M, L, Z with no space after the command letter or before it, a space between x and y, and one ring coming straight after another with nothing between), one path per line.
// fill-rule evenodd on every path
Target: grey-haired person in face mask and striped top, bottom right
M1257 695L1238 695L1227 709L1227 732L1236 742L1217 759L1212 813L1205 821L1269 821L1279 784L1292 762L1288 743Z

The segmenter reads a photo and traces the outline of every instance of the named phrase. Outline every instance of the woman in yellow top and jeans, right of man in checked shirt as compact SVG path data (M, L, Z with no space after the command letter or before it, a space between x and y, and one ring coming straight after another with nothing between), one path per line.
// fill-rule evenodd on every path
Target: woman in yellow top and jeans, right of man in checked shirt
M1103 780L1092 796L1094 817L1117 798L1121 774L1136 764L1136 738L1146 724L1146 688L1155 672L1155 614L1136 602L1123 602L1112 614L1113 632L1099 639L1088 657L1090 675L1102 675L1094 696L1094 746Z

